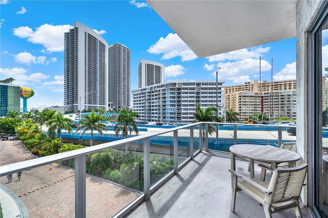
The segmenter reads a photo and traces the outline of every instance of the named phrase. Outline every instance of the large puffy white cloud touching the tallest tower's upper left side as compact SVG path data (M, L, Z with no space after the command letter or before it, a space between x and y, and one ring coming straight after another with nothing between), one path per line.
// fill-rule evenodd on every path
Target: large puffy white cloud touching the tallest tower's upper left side
M70 25L44 24L35 28L35 31L30 27L18 27L13 29L13 32L15 36L43 45L46 51L51 53L64 51L64 33L72 28L74 27Z

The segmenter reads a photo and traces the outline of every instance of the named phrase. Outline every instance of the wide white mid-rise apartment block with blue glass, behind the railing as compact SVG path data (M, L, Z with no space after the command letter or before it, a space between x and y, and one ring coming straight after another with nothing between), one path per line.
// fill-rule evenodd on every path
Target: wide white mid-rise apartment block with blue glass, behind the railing
M138 88L132 90L133 111L141 123L191 123L197 103L203 110L223 103L223 84L182 79ZM224 116L220 108L218 116Z

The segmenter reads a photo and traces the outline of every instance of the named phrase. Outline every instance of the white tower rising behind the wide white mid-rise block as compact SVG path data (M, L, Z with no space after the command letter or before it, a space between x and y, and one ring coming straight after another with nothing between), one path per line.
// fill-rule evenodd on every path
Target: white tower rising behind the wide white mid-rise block
M164 82L164 64L140 59L138 67L138 88Z

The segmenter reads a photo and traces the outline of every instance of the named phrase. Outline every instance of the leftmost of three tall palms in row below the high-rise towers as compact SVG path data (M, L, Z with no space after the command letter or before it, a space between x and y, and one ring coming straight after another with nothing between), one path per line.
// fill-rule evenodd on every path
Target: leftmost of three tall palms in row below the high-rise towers
M61 113L53 115L51 119L47 122L49 136L51 138L55 138L55 133L57 132L58 138L61 141L61 128L64 128L70 133L72 132L72 126L70 125L72 123L73 120L64 117L64 115Z

